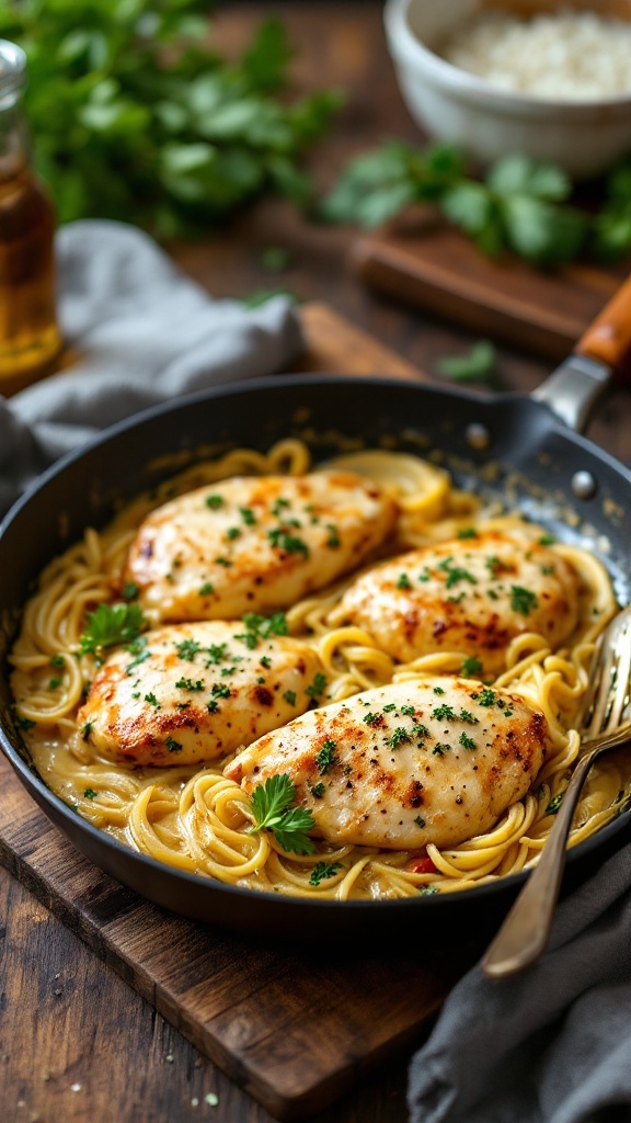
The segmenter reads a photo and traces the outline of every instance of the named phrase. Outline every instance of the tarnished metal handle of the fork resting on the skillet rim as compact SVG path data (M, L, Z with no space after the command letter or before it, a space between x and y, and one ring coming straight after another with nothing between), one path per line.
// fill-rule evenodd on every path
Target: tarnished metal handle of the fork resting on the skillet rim
M488 978L515 975L543 951L559 895L567 837L587 773L601 752L616 745L624 745L630 738L631 731L628 728L618 730L580 757L539 862L482 960L482 969Z

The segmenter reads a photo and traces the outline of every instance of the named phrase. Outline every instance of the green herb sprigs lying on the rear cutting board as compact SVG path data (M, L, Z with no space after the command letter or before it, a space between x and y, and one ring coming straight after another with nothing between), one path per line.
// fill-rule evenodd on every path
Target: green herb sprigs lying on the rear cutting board
M374 227L410 203L432 203L484 253L510 249L539 266L582 253L609 261L630 253L631 163L606 177L596 214L571 206L571 193L565 172L527 156L503 156L476 179L456 147L390 141L350 162L321 212L330 221Z

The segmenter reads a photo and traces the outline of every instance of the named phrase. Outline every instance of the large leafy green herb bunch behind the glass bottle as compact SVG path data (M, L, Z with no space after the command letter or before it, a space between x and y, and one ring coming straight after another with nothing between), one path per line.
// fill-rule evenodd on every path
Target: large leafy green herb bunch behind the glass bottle
M208 0L0 0L0 37L28 57L36 165L61 221L209 225L266 189L311 198L303 149L340 102L289 104L278 20L236 63L209 45Z

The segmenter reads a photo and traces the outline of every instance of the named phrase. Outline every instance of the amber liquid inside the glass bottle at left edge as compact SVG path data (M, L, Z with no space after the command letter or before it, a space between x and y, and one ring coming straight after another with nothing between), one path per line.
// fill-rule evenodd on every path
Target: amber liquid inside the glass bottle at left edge
M0 162L0 393L40 374L61 349L55 216L26 161Z

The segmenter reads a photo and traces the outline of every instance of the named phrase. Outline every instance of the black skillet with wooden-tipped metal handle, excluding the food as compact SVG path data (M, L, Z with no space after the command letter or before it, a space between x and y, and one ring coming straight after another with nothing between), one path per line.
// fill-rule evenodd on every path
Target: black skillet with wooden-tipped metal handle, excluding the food
M522 510L559 539L600 553L621 603L631 600L631 472L569 428L582 424L629 343L631 317L611 346L621 300L577 351L532 396L472 393L392 378L276 376L195 394L115 426L40 477L0 528L0 743L20 780L52 821L97 866L149 900L213 925L266 935L388 941L500 916L524 875L465 893L383 902L305 901L234 888L138 855L81 819L29 764L8 688L7 651L21 606L46 563L102 526L120 501L174 471L236 445L267 449L290 435L314 459L348 445L386 445L436 458L460 487ZM606 328L604 330L603 325ZM618 328L616 328L618 330ZM594 343L595 340L595 343ZM606 348L609 347L609 351ZM585 357L591 350L592 357ZM565 420L561 420L558 414ZM173 459L175 457L175 459ZM569 882L580 879L630 837L631 811L570 851ZM388 944L391 947L391 943Z

